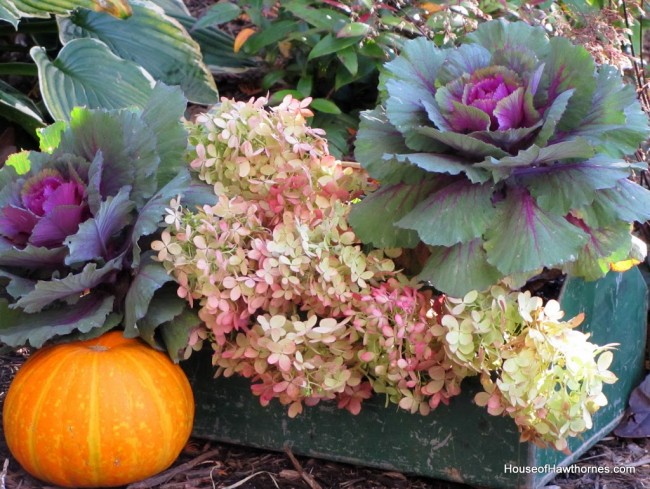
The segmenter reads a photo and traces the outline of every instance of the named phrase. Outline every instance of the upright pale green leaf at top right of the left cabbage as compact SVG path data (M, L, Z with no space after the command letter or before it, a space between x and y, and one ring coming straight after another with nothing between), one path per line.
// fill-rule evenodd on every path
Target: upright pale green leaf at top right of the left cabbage
M187 131L181 118L186 106L187 100L178 88L158 83L142 112L142 119L156 138L156 152L160 157L156 172L158 186L167 184L185 166Z

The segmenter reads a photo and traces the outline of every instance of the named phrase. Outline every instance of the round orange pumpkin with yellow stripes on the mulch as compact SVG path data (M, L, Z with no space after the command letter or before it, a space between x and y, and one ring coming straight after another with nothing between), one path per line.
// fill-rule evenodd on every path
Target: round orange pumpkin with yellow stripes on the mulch
M193 420L183 370L118 331L38 350L16 374L3 409L16 460L66 487L119 486L165 470Z

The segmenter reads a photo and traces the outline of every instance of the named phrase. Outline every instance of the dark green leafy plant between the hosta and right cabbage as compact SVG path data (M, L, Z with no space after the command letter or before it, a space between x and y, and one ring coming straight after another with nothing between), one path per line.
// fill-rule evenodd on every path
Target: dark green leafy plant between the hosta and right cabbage
M237 9L256 31L241 49L263 59L262 88L276 103L287 94L313 98L313 125L328 126L337 156L350 154L358 112L375 102L379 67L420 33L413 19L424 13L362 1L291 0L275 9L275 2L257 0L219 3L196 25L223 22Z

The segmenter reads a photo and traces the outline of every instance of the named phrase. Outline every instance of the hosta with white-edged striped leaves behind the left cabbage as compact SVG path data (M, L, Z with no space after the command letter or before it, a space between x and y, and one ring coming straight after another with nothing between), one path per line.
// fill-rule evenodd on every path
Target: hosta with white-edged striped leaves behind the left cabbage
M156 80L181 86L190 102L214 103L213 73L250 63L218 29L190 35L194 22L180 1L3 1L2 117L35 137L75 106L142 107ZM27 137L21 146L33 147Z

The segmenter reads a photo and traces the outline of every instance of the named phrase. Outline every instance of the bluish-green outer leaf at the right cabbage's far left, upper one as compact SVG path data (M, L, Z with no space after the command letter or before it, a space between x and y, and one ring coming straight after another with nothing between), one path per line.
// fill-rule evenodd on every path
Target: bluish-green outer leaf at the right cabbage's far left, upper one
M383 184L421 180L425 175L422 170L390 157L408 152L404 138L388 122L383 108L361 113L354 156L372 178Z

